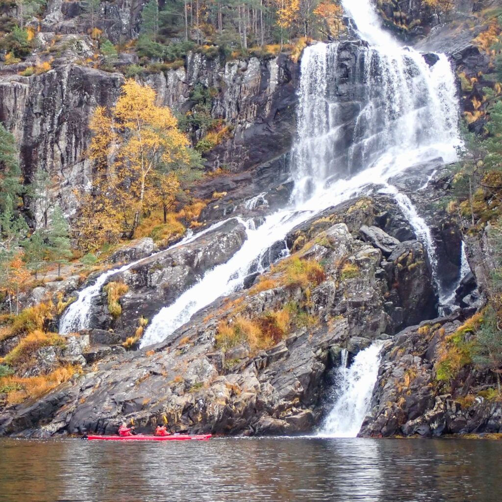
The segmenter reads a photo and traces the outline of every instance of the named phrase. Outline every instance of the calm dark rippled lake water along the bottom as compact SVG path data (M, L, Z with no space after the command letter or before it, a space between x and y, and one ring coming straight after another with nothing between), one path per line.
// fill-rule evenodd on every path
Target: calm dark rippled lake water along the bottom
M8 502L500 502L502 442L0 440Z

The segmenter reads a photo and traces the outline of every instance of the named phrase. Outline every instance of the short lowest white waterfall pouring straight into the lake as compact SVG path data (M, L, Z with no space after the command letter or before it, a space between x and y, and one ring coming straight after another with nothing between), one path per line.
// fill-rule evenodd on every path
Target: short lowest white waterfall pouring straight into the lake
M371 394L378 376L382 342L361 350L347 365L347 353L339 368L335 402L319 436L352 438L359 432L369 408ZM343 354L342 354L343 355Z

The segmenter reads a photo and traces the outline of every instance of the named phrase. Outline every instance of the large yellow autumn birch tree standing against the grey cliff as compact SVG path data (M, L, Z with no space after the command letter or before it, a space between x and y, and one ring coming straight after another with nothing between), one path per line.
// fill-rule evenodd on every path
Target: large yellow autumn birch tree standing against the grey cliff
M81 235L99 235L92 247L116 239L116 224L132 238L141 217L157 206L166 211L180 188L174 170L190 164L189 142L171 110L155 100L151 87L129 79L115 106L96 108L90 120L96 211L90 204L82 211Z

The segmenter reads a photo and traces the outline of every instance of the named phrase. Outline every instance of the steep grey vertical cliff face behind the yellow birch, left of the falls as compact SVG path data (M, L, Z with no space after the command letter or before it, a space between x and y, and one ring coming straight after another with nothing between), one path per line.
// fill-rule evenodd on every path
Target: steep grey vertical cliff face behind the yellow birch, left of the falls
M233 131L231 139L209 154L207 165L235 172L290 149L297 73L298 66L284 55L222 64L194 52L186 67L143 80L157 91L159 104L180 112L193 106L189 95L194 86L214 87L211 114L224 119ZM0 77L0 120L20 146L23 175L33 181L36 173L48 173L55 182L47 194L49 205L58 200L68 215L78 207L75 192L88 189L92 180L85 155L89 119L96 106L113 105L123 81L121 73L77 64L62 64L31 77ZM45 207L34 204L32 210L39 224L48 217Z

